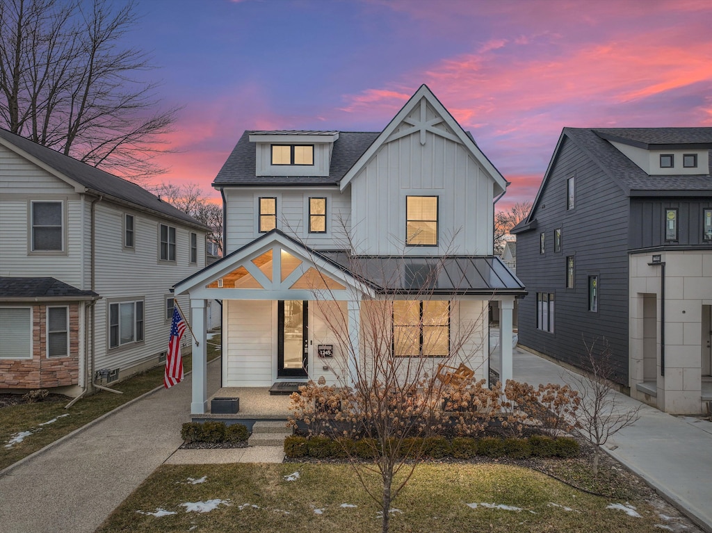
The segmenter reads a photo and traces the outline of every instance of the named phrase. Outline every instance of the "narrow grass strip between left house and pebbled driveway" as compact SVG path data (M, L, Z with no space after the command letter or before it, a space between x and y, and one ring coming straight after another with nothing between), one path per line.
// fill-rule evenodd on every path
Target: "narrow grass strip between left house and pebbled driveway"
M213 342L220 344L220 336L214 337ZM219 349L216 350L211 344L207 345L209 361L219 357L219 355ZM183 358L183 368L185 372L189 372L192 369L191 357ZM95 418L127 403L127 401L131 401L155 389L157 386L161 386L163 384L163 375L164 366L157 366L120 383L109 385L111 389L122 391L124 394L99 391L98 394L80 399L68 409L64 408L64 406L69 403L70 398L67 398L66 401L24 403L1 408L0 470L40 450L49 443L53 443L58 438L62 438ZM55 421L41 426L41 424L51 420ZM7 448L6 444L9 440L23 431L31 431L32 434L24 438L21 443L13 444Z

